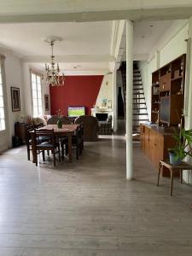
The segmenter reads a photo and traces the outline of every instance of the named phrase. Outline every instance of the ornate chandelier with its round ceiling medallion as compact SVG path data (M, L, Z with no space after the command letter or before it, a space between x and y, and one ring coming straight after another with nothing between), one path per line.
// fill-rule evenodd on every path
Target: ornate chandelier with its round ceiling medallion
M60 73L60 67L57 63L55 65L55 55L53 54L53 47L56 41L62 41L60 37L49 36L44 38L46 43L49 43L51 47L50 64L45 63L45 81L50 86L61 86L64 85L64 73ZM50 65L50 66L49 66Z

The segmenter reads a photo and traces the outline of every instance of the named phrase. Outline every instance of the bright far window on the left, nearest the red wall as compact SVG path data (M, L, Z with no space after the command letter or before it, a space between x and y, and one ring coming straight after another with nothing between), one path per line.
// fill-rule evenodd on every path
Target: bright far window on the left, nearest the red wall
M32 73L32 107L33 116L39 116L43 114L41 77L35 73Z

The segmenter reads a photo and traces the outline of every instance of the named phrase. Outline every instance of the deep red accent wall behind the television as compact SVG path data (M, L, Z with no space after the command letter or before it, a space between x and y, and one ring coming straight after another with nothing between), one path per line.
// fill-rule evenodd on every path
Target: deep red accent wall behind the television
M64 86L50 87L50 113L56 114L58 109L67 115L69 106L84 106L86 114L90 114L90 108L96 103L102 75L98 76L67 76Z

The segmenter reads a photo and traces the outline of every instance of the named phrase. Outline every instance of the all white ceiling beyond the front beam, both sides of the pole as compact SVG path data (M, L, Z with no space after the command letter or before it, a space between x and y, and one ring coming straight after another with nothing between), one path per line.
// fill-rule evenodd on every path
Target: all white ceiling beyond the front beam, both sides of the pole
M134 25L134 55L148 55L150 49L172 26L170 20L140 21ZM63 38L54 46L55 61L69 73L108 73L112 44L112 21L57 23L0 23L0 44L11 49L34 68L44 70L49 61L48 35ZM125 57L125 53L124 53Z

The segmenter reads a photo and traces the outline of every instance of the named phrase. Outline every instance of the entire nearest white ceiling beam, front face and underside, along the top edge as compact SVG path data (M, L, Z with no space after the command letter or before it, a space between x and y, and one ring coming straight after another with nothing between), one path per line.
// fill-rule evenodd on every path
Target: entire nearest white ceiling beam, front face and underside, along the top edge
M191 0L0 0L0 22L189 19Z

